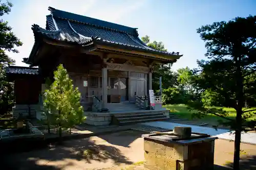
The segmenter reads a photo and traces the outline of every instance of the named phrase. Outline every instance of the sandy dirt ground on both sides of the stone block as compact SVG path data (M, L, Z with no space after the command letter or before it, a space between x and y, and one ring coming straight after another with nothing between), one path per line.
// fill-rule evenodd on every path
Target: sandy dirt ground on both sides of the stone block
M143 138L139 131L66 141L63 145L31 152L5 155L0 158L1 170L141 170L143 169ZM241 144L242 166L256 169L256 145ZM215 164L233 160L233 142L216 140ZM254 161L254 162L253 162ZM254 164L253 164L254 163ZM219 168L220 169L220 168Z

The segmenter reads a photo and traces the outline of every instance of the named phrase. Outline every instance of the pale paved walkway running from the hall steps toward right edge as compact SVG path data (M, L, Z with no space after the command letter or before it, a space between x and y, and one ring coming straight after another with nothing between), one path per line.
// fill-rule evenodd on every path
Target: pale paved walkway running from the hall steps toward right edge
M191 127L192 131L196 133L206 133L211 136L216 136L220 139L234 140L233 131L230 133L230 131L227 129L216 130L214 128L209 128L209 127L169 123L164 121L147 122L147 123L141 123L140 125L153 126L153 127L164 128L164 129L174 129L175 126ZM241 141L245 143L256 144L256 133L250 133L250 132L243 133L241 136Z

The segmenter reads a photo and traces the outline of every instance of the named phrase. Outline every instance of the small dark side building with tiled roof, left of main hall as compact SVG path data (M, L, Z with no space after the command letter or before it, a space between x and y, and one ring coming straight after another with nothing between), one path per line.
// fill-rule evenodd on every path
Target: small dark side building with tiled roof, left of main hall
M41 93L42 79L38 68L9 66L6 68L9 82L14 82L14 107L13 117L19 114L36 118L39 111L39 94Z

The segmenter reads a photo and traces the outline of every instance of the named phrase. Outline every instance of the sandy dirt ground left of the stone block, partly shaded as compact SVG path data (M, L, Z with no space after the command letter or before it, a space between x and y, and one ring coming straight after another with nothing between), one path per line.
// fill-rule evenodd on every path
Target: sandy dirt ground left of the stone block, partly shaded
M129 130L65 141L62 145L4 155L1 170L100 169L143 161L143 132Z

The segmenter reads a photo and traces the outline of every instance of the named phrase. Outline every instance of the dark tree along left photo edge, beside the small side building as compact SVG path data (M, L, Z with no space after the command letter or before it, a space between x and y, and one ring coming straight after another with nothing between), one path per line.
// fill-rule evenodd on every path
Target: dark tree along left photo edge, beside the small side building
M1 2L1 1L0 1ZM0 16L11 12L13 5L9 2L0 5ZM22 42L11 32L12 28L7 21L0 20L0 114L10 112L14 101L13 83L6 81L6 66L13 65L15 61L11 59L6 51L18 53L16 46L22 45Z

